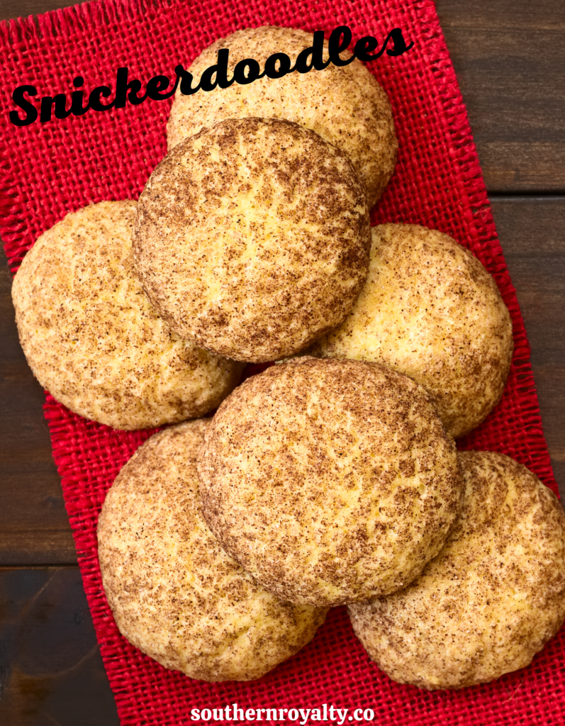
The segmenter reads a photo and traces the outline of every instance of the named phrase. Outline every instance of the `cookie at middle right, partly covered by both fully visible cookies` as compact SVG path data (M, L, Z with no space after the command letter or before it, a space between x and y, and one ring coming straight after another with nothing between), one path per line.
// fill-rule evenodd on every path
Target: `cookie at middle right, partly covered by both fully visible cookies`
M447 431L463 436L500 401L512 321L495 281L447 234L373 227L370 271L351 315L309 350L375 361L431 393Z

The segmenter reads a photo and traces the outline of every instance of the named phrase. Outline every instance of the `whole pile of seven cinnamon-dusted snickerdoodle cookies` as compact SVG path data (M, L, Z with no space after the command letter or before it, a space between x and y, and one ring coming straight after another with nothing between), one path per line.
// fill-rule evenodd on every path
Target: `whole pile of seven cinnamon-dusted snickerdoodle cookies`
M308 44L240 30L190 72ZM446 234L370 229L397 153L383 89L354 60L178 94L168 147L137 204L70 213L13 287L59 401L114 428L177 424L99 518L123 635L192 678L251 680L347 605L399 682L529 664L565 619L565 515L510 458L456 449L500 401L511 319Z

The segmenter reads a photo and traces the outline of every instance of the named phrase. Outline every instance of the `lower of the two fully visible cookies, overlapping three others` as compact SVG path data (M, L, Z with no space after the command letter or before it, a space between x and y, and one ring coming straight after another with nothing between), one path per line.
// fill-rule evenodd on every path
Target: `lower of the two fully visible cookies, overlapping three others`
M394 592L441 549L461 481L428 395L374 363L296 358L221 404L200 454L203 515L294 603Z

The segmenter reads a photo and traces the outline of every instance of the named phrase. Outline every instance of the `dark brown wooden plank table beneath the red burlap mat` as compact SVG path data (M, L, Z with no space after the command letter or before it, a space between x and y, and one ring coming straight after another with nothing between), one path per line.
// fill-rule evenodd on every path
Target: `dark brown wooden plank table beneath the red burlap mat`
M65 7L3 0L0 20ZM565 12L560 0L439 0L565 495ZM0 266L0 724L114 726L44 421Z

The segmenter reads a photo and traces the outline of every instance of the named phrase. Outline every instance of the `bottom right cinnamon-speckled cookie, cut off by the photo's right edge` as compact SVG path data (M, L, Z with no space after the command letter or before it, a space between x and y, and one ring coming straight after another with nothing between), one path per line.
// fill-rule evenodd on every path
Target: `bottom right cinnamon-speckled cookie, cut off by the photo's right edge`
M349 607L369 656L401 683L463 688L527 666L565 619L565 515L503 454L463 452L463 511L412 584Z

